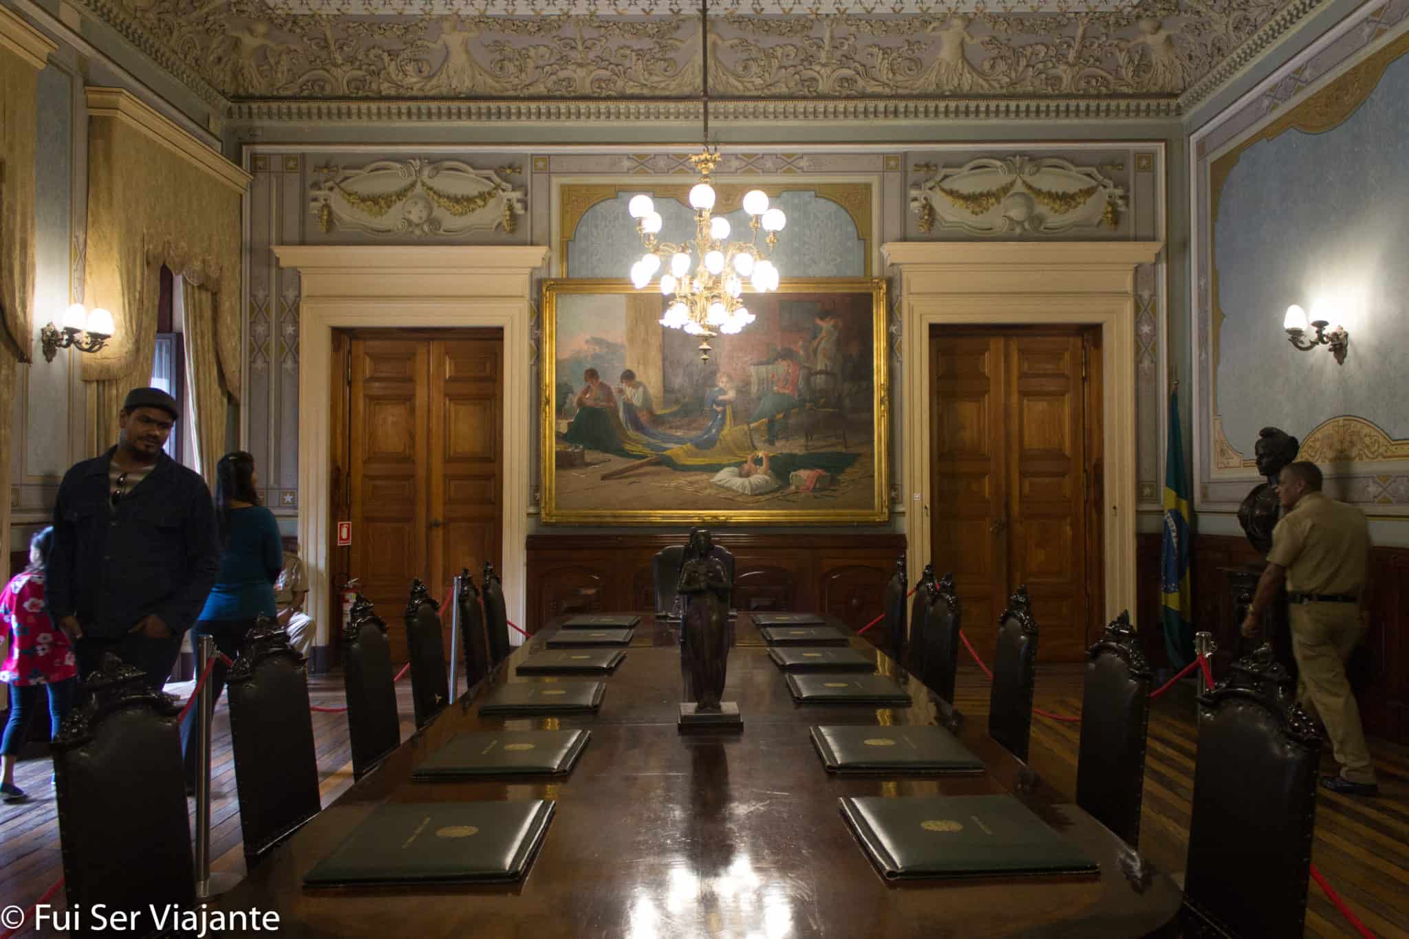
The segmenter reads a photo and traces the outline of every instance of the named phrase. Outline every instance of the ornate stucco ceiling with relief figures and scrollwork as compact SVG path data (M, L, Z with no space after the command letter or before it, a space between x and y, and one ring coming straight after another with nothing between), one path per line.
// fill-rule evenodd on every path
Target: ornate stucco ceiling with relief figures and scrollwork
M702 93L700 21L679 1L77 1L211 103L252 117L290 101ZM709 92L735 107L1061 99L1168 115L1320 1L717 0Z

